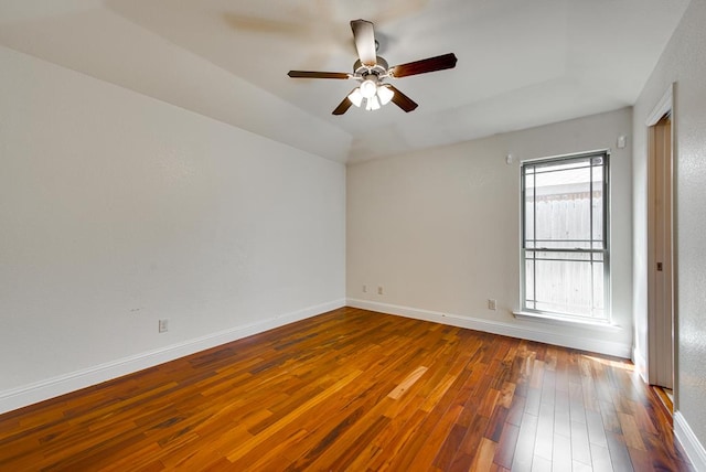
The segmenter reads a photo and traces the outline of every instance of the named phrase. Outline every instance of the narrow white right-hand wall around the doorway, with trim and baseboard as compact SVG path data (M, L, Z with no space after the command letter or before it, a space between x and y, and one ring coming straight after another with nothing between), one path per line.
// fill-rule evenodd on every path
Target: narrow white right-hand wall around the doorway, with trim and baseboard
M697 470L706 470L706 2L692 1L634 106L634 250L638 348L646 358L645 121L675 83L676 384L675 431Z

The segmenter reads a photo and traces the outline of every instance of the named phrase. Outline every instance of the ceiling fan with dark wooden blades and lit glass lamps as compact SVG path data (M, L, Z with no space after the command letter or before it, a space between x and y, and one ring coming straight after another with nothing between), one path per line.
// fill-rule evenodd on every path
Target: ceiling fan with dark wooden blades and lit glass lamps
M351 29L359 55L359 60L353 64L353 74L312 71L289 71L287 74L292 78L352 78L360 82L360 86L351 90L335 107L333 115L343 115L351 105L361 107L365 103L366 110L376 110L389 101L409 112L417 108L417 104L392 84L385 83L386 78L400 78L456 67L457 58L453 53L388 67L387 61L377 55L377 41L375 41L373 23L365 20L353 20Z

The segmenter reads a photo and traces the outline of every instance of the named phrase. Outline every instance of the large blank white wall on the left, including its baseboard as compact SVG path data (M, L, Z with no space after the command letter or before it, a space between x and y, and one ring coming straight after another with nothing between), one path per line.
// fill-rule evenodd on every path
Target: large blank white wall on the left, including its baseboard
M4 47L0 71L0 411L344 303L342 164Z

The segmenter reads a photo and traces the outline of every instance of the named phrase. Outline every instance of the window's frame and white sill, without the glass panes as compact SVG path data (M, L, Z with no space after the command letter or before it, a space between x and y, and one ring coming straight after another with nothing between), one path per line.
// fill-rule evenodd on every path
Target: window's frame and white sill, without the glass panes
M587 160L602 158L602 239L600 240L600 247L595 247L597 240L593 240L592 236L590 239L590 248L573 248L569 250L557 249L557 248L546 248L537 246L537 239L532 239L534 242L534 247L527 247L527 235L526 235L526 184L525 179L527 176L527 168L541 168L544 165L552 165L553 163L559 163L561 161L571 161L571 160ZM589 152L581 152L575 154L565 154L557 155L552 158L542 158L536 160L523 161L521 165L521 311L515 312L515 315L520 318L532 318L532 319L543 319L548 321L568 321L576 323L586 323L586 324L598 324L598 325L610 325L611 323L611 310L610 310L610 151L609 150L597 150ZM591 187L592 190L592 187ZM535 222L536 223L536 222ZM536 227L535 227L536 235ZM592 235L592 232L591 232ZM595 318L589 315L581 315L575 313L564 313L556 311L545 311L538 310L533 307L528 307L527 300L527 254L535 253L580 253L590 256L589 264L593 264L593 255L600 254L602 256L603 264L603 317ZM536 266L535 266L536 270ZM536 275L536 271L535 271ZM535 282L536 283L536 282ZM536 287L536 285L535 285ZM536 292L535 292L536 298ZM536 303L536 300L534 300Z

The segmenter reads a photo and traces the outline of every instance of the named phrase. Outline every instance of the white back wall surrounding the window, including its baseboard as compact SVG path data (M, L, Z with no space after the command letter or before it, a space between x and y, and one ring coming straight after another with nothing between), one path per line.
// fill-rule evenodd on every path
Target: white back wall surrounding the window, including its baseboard
M616 142L630 135L631 119L625 108L350 165L349 303L629 357L631 149L616 149ZM611 290L619 328L577 331L515 319L520 160L606 148L612 148ZM488 299L498 300L498 311L488 309Z

